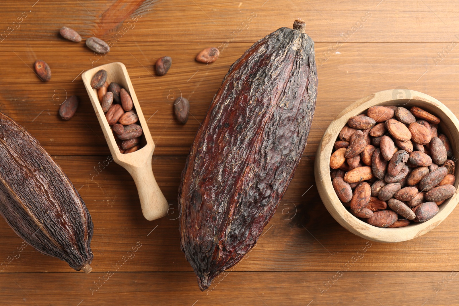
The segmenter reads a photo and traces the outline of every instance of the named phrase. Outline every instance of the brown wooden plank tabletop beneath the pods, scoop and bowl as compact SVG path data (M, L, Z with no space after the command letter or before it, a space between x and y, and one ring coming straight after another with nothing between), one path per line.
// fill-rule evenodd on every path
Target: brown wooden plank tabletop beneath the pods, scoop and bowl
M247 22L252 12L256 17ZM27 17L13 24L22 14ZM2 1L0 17L0 34L7 31L0 39L0 110L50 152L94 221L94 270L85 275L31 246L13 253L22 240L0 220L0 262L8 263L0 269L2 305L455 303L457 209L419 238L367 243L330 216L313 177L315 151L329 123L371 93L393 89L398 95L409 88L459 115L459 46L452 43L459 41L459 8L454 2L27 0ZM179 248L177 189L186 154L229 66L257 39L291 27L297 17L307 21L318 64L308 146L257 246L201 292ZM84 39L96 35L114 42L110 53L98 59L83 42L63 40L58 30L64 25ZM218 61L194 61L200 50L222 42L229 44ZM172 67L158 77L153 64L166 55ZM50 65L50 82L41 82L30 69L37 59ZM110 153L81 81L81 72L115 61L126 65L148 121L156 144L153 172L171 207L168 216L152 222L142 216L129 173L114 162L101 166ZM59 119L56 106L66 93L80 98L78 116L68 122ZM174 119L171 105L180 93L190 100L184 126ZM124 262L135 246L135 256Z

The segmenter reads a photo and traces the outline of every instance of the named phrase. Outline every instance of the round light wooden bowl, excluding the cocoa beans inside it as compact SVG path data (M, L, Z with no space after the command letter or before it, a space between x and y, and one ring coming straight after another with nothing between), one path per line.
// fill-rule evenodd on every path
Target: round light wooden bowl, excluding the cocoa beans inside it
M394 90L385 90L369 95L348 106L330 123L319 143L316 153L314 166L315 181L325 207L341 226L362 238L372 241L399 242L419 237L432 228L435 228L448 217L459 201L459 195L456 191L451 198L438 207L439 211L437 215L426 222L410 224L403 228L377 228L354 217L341 204L341 201L336 195L330 177L330 156L333 145L338 138L341 128L347 123L347 120L352 116L364 113L370 106L397 105L405 108L418 106L434 114L440 118L439 130L448 137L453 152L459 152L459 121L453 112L440 101L429 95L408 89L405 90L405 95L407 99L397 99L397 94L394 94ZM456 161L456 158L453 157L453 161ZM459 184L458 172L456 171L455 174L456 182L454 187L456 189Z

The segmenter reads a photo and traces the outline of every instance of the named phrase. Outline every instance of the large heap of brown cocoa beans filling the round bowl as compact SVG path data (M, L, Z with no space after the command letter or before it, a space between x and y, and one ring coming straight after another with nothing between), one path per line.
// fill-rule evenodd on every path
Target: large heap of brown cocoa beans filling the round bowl
M342 204L376 227L425 222L456 188L453 151L440 119L413 106L372 106L349 118L330 157Z

